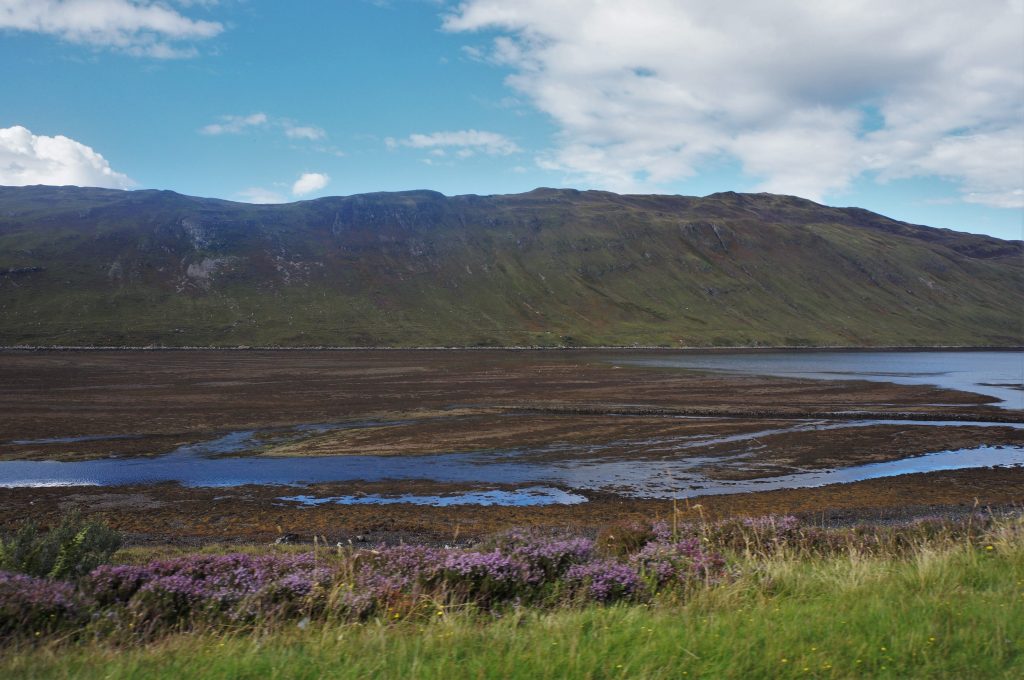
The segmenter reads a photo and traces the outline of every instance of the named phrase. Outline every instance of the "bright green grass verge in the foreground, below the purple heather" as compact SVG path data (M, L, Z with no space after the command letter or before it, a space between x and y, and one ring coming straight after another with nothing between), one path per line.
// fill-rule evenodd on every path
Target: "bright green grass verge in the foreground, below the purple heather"
M0 677L1024 677L1019 532L902 558L748 559L683 603L23 644Z

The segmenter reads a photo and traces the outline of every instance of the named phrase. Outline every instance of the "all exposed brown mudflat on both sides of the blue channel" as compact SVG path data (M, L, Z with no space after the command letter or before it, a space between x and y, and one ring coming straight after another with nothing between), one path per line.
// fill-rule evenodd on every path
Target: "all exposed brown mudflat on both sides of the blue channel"
M581 457L630 462L682 456L683 449L698 447L701 472L743 479L1024 443L1022 431L1011 425L1024 414L971 392L621 360L640 353L651 351L6 350L0 352L0 460L160 456L238 430L358 424L267 436L265 442L257 436L251 450L230 455L309 457L315 465L317 456L516 450L532 463ZM851 418L885 422L831 430L800 425L814 419L842 425ZM922 424L928 421L964 424ZM531 508L302 507L281 500L299 493L445 494L456 486L467 488L423 479L348 480L305 492L270 484L2 488L0 524L26 514L45 519L58 507L76 505L145 541L263 540L279 532L339 539L386 532L443 540L524 522L583 526L679 509L613 491L585 493L588 502L578 506ZM501 485L487 486L496 487ZM691 499L688 505L716 513L856 514L962 507L975 500L1024 501L1024 474L910 474Z

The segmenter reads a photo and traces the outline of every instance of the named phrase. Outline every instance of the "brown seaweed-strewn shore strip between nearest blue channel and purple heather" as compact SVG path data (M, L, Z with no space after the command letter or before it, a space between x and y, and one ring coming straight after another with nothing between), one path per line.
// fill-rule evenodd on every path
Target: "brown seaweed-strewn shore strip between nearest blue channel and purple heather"
M331 484L317 491L328 493ZM975 468L793 490L697 496L688 500L633 499L587 493L575 505L439 507L432 505L302 506L282 503L286 487L153 485L0 488L0 527L27 513L42 524L78 508L131 536L136 545L202 547L327 539L347 543L444 544L477 541L516 526L571 527L579 533L629 521L795 515L822 525L913 521L973 511L1021 512L1024 468Z

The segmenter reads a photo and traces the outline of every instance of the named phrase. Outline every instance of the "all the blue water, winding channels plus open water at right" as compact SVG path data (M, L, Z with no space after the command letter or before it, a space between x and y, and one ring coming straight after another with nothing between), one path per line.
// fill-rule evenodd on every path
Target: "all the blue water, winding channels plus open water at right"
M741 374L816 379L862 379L901 384L929 384L973 391L1002 399L1005 409L1020 409L1024 392L1021 352L779 352L767 354L678 354L625 357L620 363L677 367ZM612 492L637 498L684 498L776 488L798 488L861 481L879 477L991 466L1024 466L1024 445L940 451L888 463L831 470L800 470L781 476L744 480L715 479L708 466L750 472L758 463L754 453L732 456L701 455L701 450L726 442L751 441L784 433L851 427L1011 427L1021 423L933 422L908 420L800 420L774 429L729 435L668 436L599 444L553 443L528 449L506 449L430 456L319 456L274 458L246 456L267 444L290 441L310 433L353 427L396 425L411 421L317 423L294 428L240 430L208 441L179 447L170 454L146 458L101 459L77 462L3 461L0 486L125 485L179 482L186 486L280 484L300 487L322 482L432 480L465 484L465 491L444 495L353 495L316 498L283 496L290 502L315 505L412 503L420 505L545 505L581 503L572 492ZM110 437L56 437L20 443L85 441ZM618 452L617 457L609 456ZM628 452L627 456L621 455ZM728 475L726 475L728 476ZM487 485L521 485L486 490ZM571 491L565 491L571 490Z

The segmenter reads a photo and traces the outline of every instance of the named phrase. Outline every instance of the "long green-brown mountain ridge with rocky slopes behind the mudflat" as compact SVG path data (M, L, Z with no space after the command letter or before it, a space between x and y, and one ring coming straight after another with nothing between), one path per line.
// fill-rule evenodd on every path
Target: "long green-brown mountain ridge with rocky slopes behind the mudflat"
M769 194L0 187L0 344L1020 345L1024 244Z

